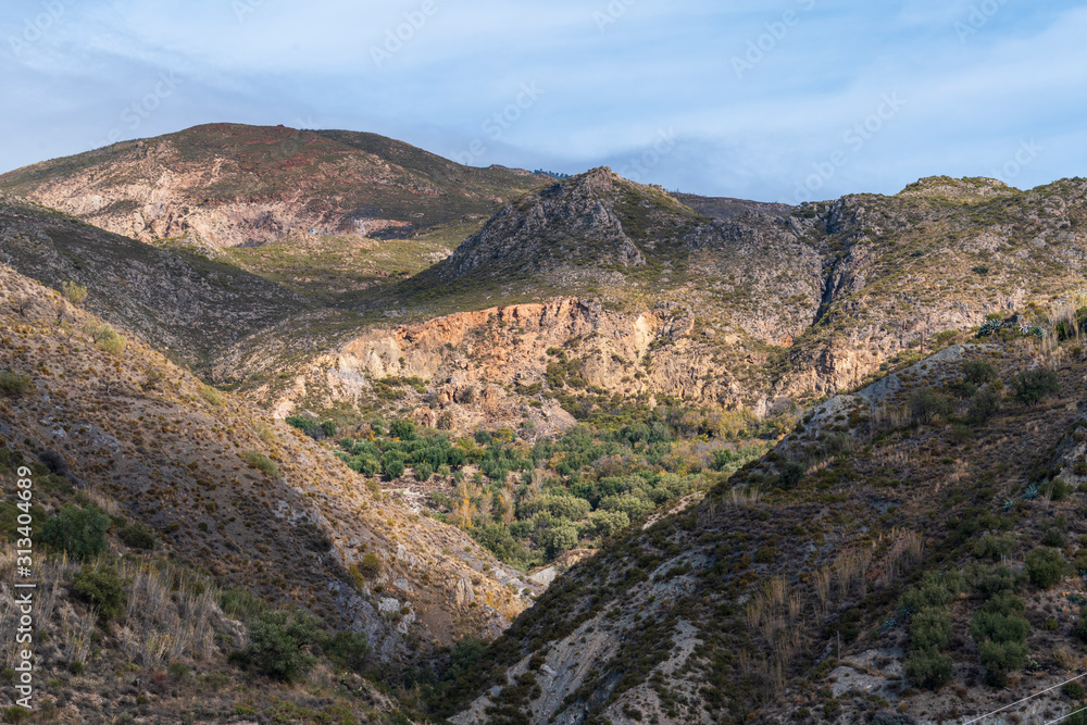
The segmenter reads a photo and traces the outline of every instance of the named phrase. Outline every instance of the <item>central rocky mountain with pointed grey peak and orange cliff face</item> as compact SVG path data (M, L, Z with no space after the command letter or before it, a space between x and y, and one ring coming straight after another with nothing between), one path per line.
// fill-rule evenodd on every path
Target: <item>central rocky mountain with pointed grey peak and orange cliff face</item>
M218 374L272 365L260 379L289 380L254 395L280 411L363 414L383 404L375 382L414 376L427 386L397 405L458 428L553 429L661 403L790 418L988 315L1080 290L1085 199L1082 179L1021 191L934 177L791 211L719 201L714 218L595 170L530 191L363 298L365 332L342 330L311 365L238 348ZM465 403L470 388L487 395Z

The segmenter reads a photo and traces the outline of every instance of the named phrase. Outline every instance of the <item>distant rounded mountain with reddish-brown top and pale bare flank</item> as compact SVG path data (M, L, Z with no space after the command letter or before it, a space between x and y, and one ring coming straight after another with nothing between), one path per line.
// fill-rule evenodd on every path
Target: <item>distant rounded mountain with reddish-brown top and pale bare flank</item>
M374 134L224 123L34 164L0 175L0 189L140 241L234 247L291 230L409 237L489 215L542 180Z

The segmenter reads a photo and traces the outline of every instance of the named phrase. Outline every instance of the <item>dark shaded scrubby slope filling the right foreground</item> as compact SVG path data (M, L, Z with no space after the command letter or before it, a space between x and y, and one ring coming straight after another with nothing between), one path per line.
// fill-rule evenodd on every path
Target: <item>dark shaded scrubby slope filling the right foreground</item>
M1075 334L1008 339L832 399L697 507L615 537L439 710L916 723L1053 688L1009 722L1072 711L1054 686L1078 672L1087 602L1083 350Z

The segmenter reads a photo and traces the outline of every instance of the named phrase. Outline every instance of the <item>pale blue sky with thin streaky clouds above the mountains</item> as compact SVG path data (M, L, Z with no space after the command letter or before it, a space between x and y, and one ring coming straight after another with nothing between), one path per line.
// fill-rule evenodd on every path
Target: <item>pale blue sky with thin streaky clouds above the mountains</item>
M202 123L798 203L1087 176L1087 1L7 0L0 172Z

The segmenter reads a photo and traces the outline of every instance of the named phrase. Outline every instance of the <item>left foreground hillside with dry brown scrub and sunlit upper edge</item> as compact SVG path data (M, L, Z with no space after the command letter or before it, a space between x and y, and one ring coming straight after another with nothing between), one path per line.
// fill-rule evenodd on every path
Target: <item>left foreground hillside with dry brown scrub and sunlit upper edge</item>
M226 659L245 647L246 623L261 608L299 608L332 633L363 633L365 666L393 672L435 646L497 635L539 591L459 529L398 507L312 439L203 385L55 291L0 267L0 293L2 534L15 541L15 473L33 464L33 501L41 507L35 530L45 537L67 505L104 511L108 548L101 557L91 552L90 571L120 567L137 604L92 636L91 651L78 638L93 626L93 611L70 593L80 568L60 555L79 549L36 539L41 576L55 582L54 614L40 621L49 639L38 646L38 693L70 703L72 722L97 722L88 713L183 722L196 712L186 698L205 675L223 690L215 699L227 709L220 714L235 703L255 714L278 707L277 697L297 699L290 687L258 697L235 687L262 682ZM14 549L7 551L11 573ZM178 597L196 599L175 598L173 614L173 604L145 613L140 587L155 593L164 586L155 596L168 598L170 577L182 577ZM16 622L13 600L3 602L3 621ZM199 637L168 629L170 617L195 616L186 607L200 608L199 621L191 620L207 627ZM14 651L4 657L11 666ZM125 662L137 662L145 677L175 662L177 672L200 678L182 686L163 674L136 702L111 674ZM339 691L328 685L335 677L327 665L323 672L327 682L314 686ZM370 691L361 680L353 687ZM350 708L373 707L348 700Z

